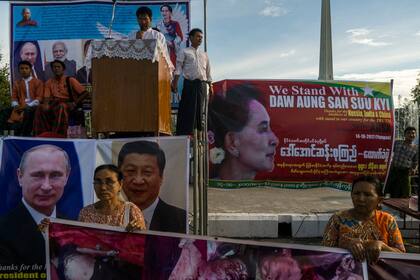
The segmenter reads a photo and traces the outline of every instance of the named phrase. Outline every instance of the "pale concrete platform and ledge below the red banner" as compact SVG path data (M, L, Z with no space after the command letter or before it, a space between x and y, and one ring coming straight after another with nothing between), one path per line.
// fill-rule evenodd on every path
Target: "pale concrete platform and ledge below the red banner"
M238 238L276 238L285 234L317 237L322 235L332 213L351 205L349 192L331 188L210 188L208 233Z

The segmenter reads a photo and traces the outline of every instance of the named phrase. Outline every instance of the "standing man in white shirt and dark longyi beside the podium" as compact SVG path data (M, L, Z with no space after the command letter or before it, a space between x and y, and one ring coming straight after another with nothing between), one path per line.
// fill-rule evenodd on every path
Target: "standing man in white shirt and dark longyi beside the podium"
M177 135L190 135L193 129L202 129L203 101L213 92L210 62L207 53L199 49L203 41L203 32L194 28L189 33L191 46L183 49L176 59L175 77L172 91L178 92L179 76L184 76L181 102L178 108L176 124Z

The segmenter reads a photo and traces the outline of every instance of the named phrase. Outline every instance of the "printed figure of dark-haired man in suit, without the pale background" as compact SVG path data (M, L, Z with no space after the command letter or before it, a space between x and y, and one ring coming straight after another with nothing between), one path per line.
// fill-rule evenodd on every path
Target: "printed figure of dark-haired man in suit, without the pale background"
M118 155L122 196L141 209L147 229L186 233L186 211L159 197L165 164L165 153L156 142L124 144Z

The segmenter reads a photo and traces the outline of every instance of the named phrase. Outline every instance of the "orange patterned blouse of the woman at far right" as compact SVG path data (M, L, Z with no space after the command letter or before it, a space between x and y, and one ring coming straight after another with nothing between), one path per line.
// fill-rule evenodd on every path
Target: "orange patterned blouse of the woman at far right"
M363 241L380 240L390 247L405 252L397 222L394 217L383 211L376 210L372 218L363 222L353 218L349 210L334 214L325 227L322 244L347 248L350 238L360 238Z

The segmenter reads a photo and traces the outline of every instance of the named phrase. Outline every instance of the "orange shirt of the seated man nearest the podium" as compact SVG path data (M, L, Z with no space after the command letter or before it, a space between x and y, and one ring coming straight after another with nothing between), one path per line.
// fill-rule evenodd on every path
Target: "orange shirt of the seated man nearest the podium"
M70 86L73 89L73 98L85 91L85 88L75 79L70 77ZM66 85L66 76L62 76L59 80L56 78L49 79L45 83L44 98L59 98L62 100L69 99L69 92Z

